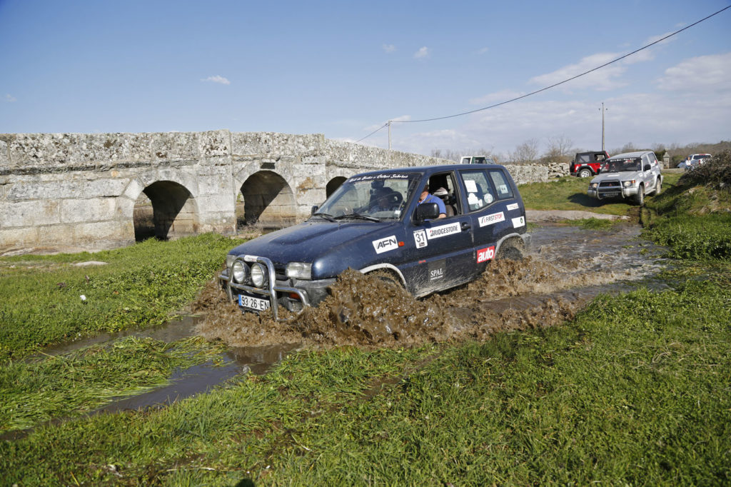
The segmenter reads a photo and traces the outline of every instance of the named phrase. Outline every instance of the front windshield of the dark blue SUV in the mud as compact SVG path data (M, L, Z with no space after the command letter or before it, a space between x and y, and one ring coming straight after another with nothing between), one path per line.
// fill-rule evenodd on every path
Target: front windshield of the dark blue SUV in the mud
M313 216L323 219L400 219L420 174L382 173L349 178Z

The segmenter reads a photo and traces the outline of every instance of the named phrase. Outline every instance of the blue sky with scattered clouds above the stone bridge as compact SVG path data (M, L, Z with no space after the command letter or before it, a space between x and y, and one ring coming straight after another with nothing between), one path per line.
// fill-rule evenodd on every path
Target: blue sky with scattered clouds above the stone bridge
M510 154L731 139L731 9L667 1L0 0L0 133L322 133ZM407 121L401 123L398 121ZM387 147L382 129L360 143Z

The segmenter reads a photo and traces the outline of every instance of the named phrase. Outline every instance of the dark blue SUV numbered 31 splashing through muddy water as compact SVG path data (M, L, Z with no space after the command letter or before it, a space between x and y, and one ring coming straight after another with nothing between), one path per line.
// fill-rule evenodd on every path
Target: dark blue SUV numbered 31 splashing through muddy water
M420 203L425 186L443 208ZM529 238L501 165L379 170L344 181L306 222L232 249L219 279L243 311L271 307L277 317L279 306L300 312L322 301L347 268L420 297L476 279L495 258L521 257Z

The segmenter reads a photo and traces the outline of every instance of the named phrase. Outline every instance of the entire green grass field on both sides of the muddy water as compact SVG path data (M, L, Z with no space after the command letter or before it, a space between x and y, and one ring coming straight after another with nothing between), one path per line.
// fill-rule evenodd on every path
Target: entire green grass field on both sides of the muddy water
M556 183L553 208L587 209L559 208L575 181ZM662 276L667 290L600 296L565 325L486 342L304 350L266 376L159 410L81 415L110 393L210 360L215 344L128 339L21 359L64 336L164 320L213 276L231 241L204 235L93 257L0 259L0 390L12 398L0 424L39 425L0 441L0 483L728 485L731 260L708 250L724 249L716 229L725 223L693 222L722 215L696 215L708 205L688 203L711 189L670 182L643 211L646 235L667 239L678 259ZM550 206L550 196L534 203L544 192L521 188L529 208ZM714 201L727 195L713 192ZM622 214L621 205L593 210ZM682 251L683 235L708 246ZM109 265L70 265L91 258ZM39 423L58 416L76 418Z

